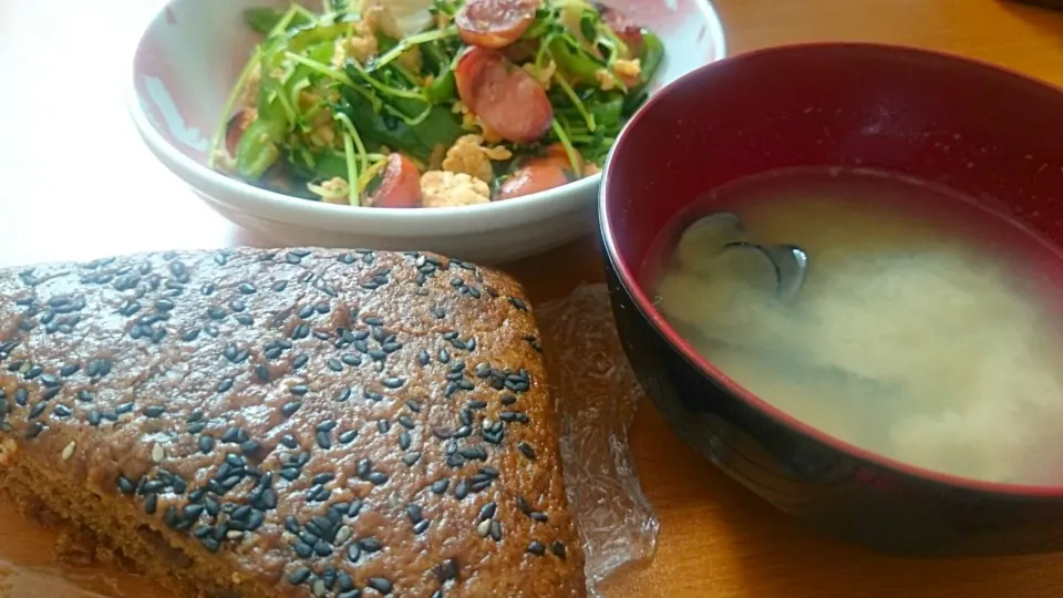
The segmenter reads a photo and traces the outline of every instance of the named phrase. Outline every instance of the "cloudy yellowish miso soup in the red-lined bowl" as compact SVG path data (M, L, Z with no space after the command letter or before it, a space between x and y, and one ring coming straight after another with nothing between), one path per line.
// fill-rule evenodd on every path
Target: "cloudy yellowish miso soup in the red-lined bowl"
M1063 256L1053 246L968 197L867 171L742 179L677 221L719 212L737 215L750 241L797 245L809 258L801 290L781 300L764 272L724 266L719 239L685 228L662 238L651 261L658 308L726 377L901 462L1063 482Z

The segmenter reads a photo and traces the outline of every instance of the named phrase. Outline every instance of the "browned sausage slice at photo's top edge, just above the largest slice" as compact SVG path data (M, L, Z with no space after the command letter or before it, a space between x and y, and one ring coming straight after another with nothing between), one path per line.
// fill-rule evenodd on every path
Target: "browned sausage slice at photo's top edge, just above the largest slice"
M505 48L535 21L539 0L468 0L454 17L462 41L479 48Z

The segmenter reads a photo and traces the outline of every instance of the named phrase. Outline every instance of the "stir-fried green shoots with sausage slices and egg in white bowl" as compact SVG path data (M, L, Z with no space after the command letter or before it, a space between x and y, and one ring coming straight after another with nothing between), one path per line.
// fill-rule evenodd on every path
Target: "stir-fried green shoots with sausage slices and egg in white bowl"
M265 40L211 167L350 206L485 204L595 174L663 59L585 0L326 0L246 20Z

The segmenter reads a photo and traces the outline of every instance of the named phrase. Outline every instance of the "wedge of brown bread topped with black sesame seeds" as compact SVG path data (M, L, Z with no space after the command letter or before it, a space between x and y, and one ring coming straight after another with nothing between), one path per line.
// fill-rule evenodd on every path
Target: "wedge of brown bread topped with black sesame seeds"
M429 254L0 270L0 487L187 596L584 596L536 328Z

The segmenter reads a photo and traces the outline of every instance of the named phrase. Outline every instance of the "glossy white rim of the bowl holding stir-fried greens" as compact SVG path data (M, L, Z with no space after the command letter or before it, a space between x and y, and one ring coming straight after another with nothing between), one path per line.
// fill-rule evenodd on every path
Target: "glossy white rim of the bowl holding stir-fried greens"
M400 237L419 237L424 234L422 227L427 225L433 226L434 234L462 234L468 233L471 229L491 230L504 224L516 225L525 223L528 219L526 215L529 208L535 209L544 216L558 215L572 209L572 204L580 203L579 198L581 196L585 194L589 195L596 186L600 186L601 184L602 175L599 172L567 183L560 187L514 197L513 199L504 202L431 209L351 209L351 206L307 200L256 187L242 181L226 176L206 164L200 164L187 156L177 150L174 144L164 138L144 110L141 94L136 89L138 78L136 58L144 48L144 40L149 34L153 25L159 19L165 19L166 12L171 10L171 6L178 1L180 0L162 2L158 10L152 13L141 28L141 33L136 38L136 43L130 60L131 76L128 76L124 84L126 110L145 144L167 168L198 190L209 193L211 196L218 196L219 202L230 204L233 202L228 198L240 197L242 199L241 203L257 204L261 207L264 214L274 214L280 218L291 217L303 220L308 218L330 219L339 224L334 229L348 231L353 231L351 225L358 223L359 228L379 227L378 231L381 234ZM706 34L712 39L713 58L711 62L725 59L727 55L727 44L723 21L720 18L719 11L712 4L711 0L693 0L693 4L698 9L698 13L701 14L706 28ZM685 74L687 73L683 73L677 79L681 79ZM658 92L651 93L647 102L652 100L653 96L659 94L667 85L668 83L662 85ZM631 120L633 120L633 116L629 122ZM214 138L213 131L214 130L211 130L210 135L211 141ZM613 142L613 145L616 145L616 143L617 142ZM547 209L544 210L544 208ZM491 220L488 221L486 218ZM479 223L478 226L474 224L477 221Z

